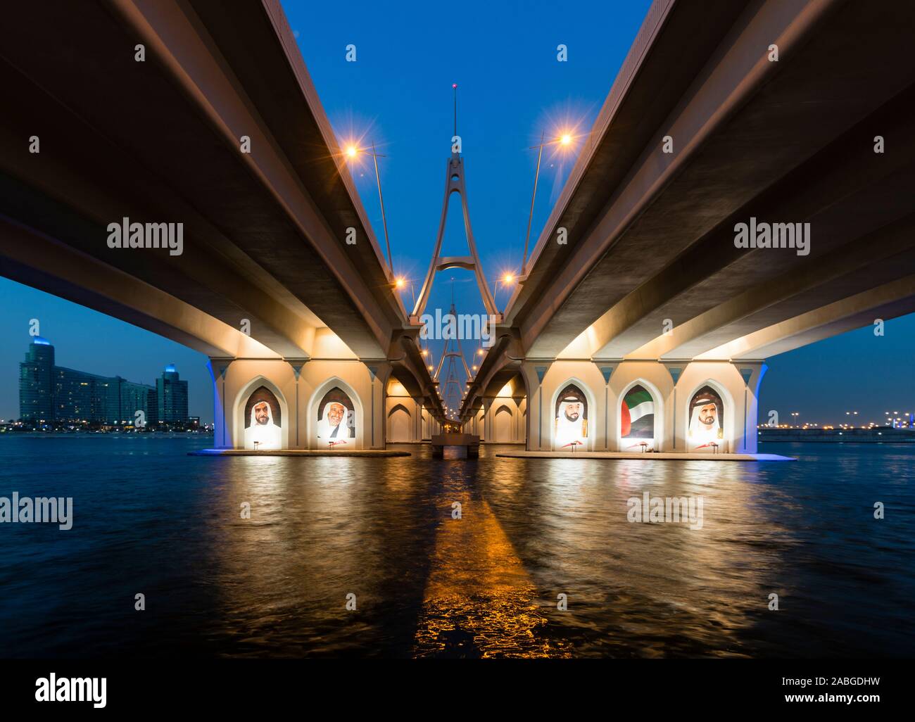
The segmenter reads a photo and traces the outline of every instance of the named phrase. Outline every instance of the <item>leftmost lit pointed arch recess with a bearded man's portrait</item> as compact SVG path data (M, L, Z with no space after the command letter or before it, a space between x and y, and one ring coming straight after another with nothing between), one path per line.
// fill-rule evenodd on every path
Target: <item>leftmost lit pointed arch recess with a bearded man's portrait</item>
M235 447L258 451L289 447L289 407L283 392L266 376L257 375L246 383L231 408Z

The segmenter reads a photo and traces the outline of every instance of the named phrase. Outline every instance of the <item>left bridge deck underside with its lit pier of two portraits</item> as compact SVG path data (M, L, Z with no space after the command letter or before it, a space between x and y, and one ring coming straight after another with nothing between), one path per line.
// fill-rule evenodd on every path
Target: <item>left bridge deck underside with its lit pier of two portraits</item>
M324 400L344 410L335 444L383 447L391 379L437 423L280 5L52 5L5 8L0 274L209 356L219 446L256 423L322 447ZM111 224L129 223L180 224L181 245L113 247ZM255 392L281 423L253 422Z

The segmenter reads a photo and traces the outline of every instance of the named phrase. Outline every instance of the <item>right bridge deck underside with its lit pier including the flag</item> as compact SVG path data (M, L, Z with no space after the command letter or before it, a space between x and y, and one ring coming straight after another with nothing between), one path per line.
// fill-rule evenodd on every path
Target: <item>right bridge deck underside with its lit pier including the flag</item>
M754 452L766 359L915 311L912 188L910 8L654 3L462 418L520 377L528 448L578 428L570 387L574 446L690 451L708 397L705 450ZM738 244L757 222L809 245Z

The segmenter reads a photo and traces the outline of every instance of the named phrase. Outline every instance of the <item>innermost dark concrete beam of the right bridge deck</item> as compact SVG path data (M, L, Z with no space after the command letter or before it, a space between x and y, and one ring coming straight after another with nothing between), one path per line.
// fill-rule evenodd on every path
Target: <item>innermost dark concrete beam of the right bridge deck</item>
M599 197L606 209L583 241L570 240L565 267L540 289L536 303L513 312L528 355L555 357L606 313L608 301L618 303L909 87L915 63L905 49L900 12L889 3L750 4L640 158L626 167L626 178L603 188L579 188L579 179L570 179L568 202L576 194L580 203ZM850 42L860 56L835 49ZM780 48L777 63L767 58L772 43ZM893 72L881 72L887 67ZM662 135L673 136L673 154L662 153ZM542 241L564 224L562 212L557 207Z

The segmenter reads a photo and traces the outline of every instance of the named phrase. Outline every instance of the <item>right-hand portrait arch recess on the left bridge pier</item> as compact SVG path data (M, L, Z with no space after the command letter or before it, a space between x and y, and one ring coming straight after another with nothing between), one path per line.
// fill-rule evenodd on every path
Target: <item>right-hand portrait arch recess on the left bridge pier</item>
M341 408L342 407L342 408ZM362 448L362 402L337 376L322 383L308 399L308 438L313 448Z

